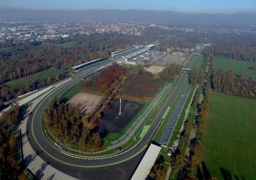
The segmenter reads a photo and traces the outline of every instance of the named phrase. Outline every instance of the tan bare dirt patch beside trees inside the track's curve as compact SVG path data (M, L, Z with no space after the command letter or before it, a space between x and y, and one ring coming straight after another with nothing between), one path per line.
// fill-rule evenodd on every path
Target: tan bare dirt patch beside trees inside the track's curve
M102 96L90 93L77 93L68 102L79 106L82 112L90 113L97 106Z

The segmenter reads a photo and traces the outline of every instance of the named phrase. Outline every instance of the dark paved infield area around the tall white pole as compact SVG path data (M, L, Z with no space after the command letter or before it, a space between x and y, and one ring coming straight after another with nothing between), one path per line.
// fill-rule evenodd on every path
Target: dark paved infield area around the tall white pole
M143 105L134 101L122 100L122 115L119 116L119 100L114 100L102 116L100 129L107 133L118 132L140 112Z

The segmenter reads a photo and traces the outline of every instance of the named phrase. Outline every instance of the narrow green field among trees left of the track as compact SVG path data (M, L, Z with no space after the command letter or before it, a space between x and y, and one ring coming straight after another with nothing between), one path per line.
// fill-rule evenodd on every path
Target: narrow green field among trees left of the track
M58 73L63 72L63 70L57 70L56 68L50 68L48 70L42 71L40 73L36 73L35 75L30 75L28 77L24 77L17 80L12 80L10 82L6 83L6 86L10 87L11 89L19 88L20 86L24 86L29 80L31 82L35 80L44 79L45 77L48 77L49 75L56 75Z

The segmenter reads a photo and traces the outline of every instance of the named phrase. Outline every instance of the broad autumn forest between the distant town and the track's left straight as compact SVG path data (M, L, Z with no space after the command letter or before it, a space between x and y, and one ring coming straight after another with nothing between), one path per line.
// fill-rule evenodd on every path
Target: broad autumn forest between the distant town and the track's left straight
M158 34L157 34L158 33ZM161 38L158 31L147 30L141 36L129 34L76 35L73 48L26 42L10 49L0 50L0 84L33 75L47 68L73 66L93 59L109 57L110 52L129 47L134 43Z

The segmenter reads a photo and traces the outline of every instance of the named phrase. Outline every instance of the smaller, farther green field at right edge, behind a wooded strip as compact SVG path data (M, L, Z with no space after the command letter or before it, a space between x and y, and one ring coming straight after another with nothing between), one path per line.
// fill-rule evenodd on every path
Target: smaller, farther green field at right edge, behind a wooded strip
M250 70L249 67L256 65L255 62L250 61L238 61L234 59L228 59L223 57L214 58L214 68L219 70L233 70L235 75L239 76L241 72L244 73L245 78L256 79L256 71Z

